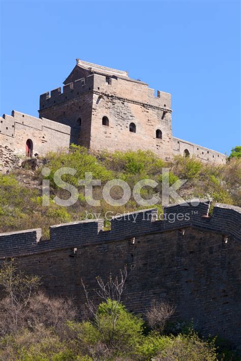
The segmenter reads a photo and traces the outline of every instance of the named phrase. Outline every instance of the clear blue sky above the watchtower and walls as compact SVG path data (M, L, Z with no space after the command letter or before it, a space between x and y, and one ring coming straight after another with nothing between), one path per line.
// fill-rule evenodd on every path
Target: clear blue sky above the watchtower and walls
M1 115L38 116L80 58L170 92L173 136L240 145L239 1L0 2Z

